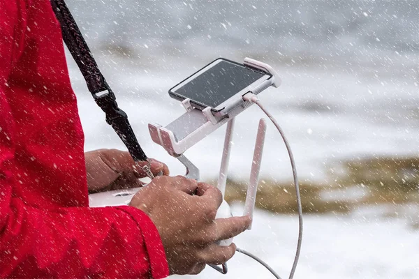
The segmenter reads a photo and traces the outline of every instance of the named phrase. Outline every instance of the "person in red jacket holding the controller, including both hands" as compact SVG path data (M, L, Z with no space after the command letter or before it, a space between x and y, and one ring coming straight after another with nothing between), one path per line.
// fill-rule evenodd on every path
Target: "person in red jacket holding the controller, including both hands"
M0 278L164 278L220 264L249 226L214 220L219 190L163 172L129 206L88 192L137 187L127 152L84 153L59 23L49 0L0 0ZM93 101L92 101L93 102Z

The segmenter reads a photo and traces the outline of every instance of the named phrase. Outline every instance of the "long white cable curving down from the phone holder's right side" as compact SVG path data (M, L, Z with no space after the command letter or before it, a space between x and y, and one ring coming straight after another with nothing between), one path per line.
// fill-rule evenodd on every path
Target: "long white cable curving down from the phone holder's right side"
M260 103L260 100L258 99L258 97L253 93L247 93L246 95L243 96L243 100L256 103L256 105L258 105L260 109L263 110L263 112L265 112L265 114L269 117L272 123L274 123L274 126L277 127L279 133L281 134L282 139L284 140L286 150L288 151L288 155L291 160L291 167L293 167L295 195L297 196L297 211L298 211L298 221L299 221L297 249L295 250L293 268L291 269L290 276L288 277L288 279L293 279L295 269L297 268L298 259L300 258L301 243L302 243L302 206L301 206L301 197L300 197L300 186L298 185L297 168L295 167L293 151L291 151L291 146L288 140L286 140L284 131L279 126L277 120L275 120L274 116L272 116L272 114L270 114L270 112L268 112L266 108Z

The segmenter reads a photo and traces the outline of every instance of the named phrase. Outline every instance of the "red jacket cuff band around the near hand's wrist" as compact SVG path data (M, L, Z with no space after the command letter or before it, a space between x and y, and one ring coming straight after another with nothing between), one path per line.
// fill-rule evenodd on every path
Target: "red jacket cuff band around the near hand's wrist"
M169 265L166 259L166 252L164 251L159 231L152 219L144 211L133 206L116 206L116 208L131 215L140 228L149 256L152 278L161 279L168 277Z

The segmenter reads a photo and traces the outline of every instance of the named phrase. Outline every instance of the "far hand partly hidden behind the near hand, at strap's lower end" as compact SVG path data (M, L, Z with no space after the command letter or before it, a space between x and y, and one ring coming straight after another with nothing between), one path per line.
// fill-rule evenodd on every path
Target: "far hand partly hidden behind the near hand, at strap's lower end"
M141 187L142 183L138 179L147 176L142 171L142 167L147 162L139 162L135 165L127 151L98 149L84 153L84 158L89 193ZM154 159L149 160L154 175L169 174L167 165Z

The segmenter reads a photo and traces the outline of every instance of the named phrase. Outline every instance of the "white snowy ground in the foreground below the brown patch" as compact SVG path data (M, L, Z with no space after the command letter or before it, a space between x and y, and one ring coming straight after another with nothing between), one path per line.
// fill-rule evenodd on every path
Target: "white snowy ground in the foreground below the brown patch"
M237 214L240 207L234 206ZM238 247L264 259L288 278L297 241L297 218L258 211L253 229L235 239ZM403 220L354 216L306 216L295 279L419 278L419 233ZM210 267L188 278L274 278L240 253L228 262L228 275ZM173 276L173 278L183 278Z

